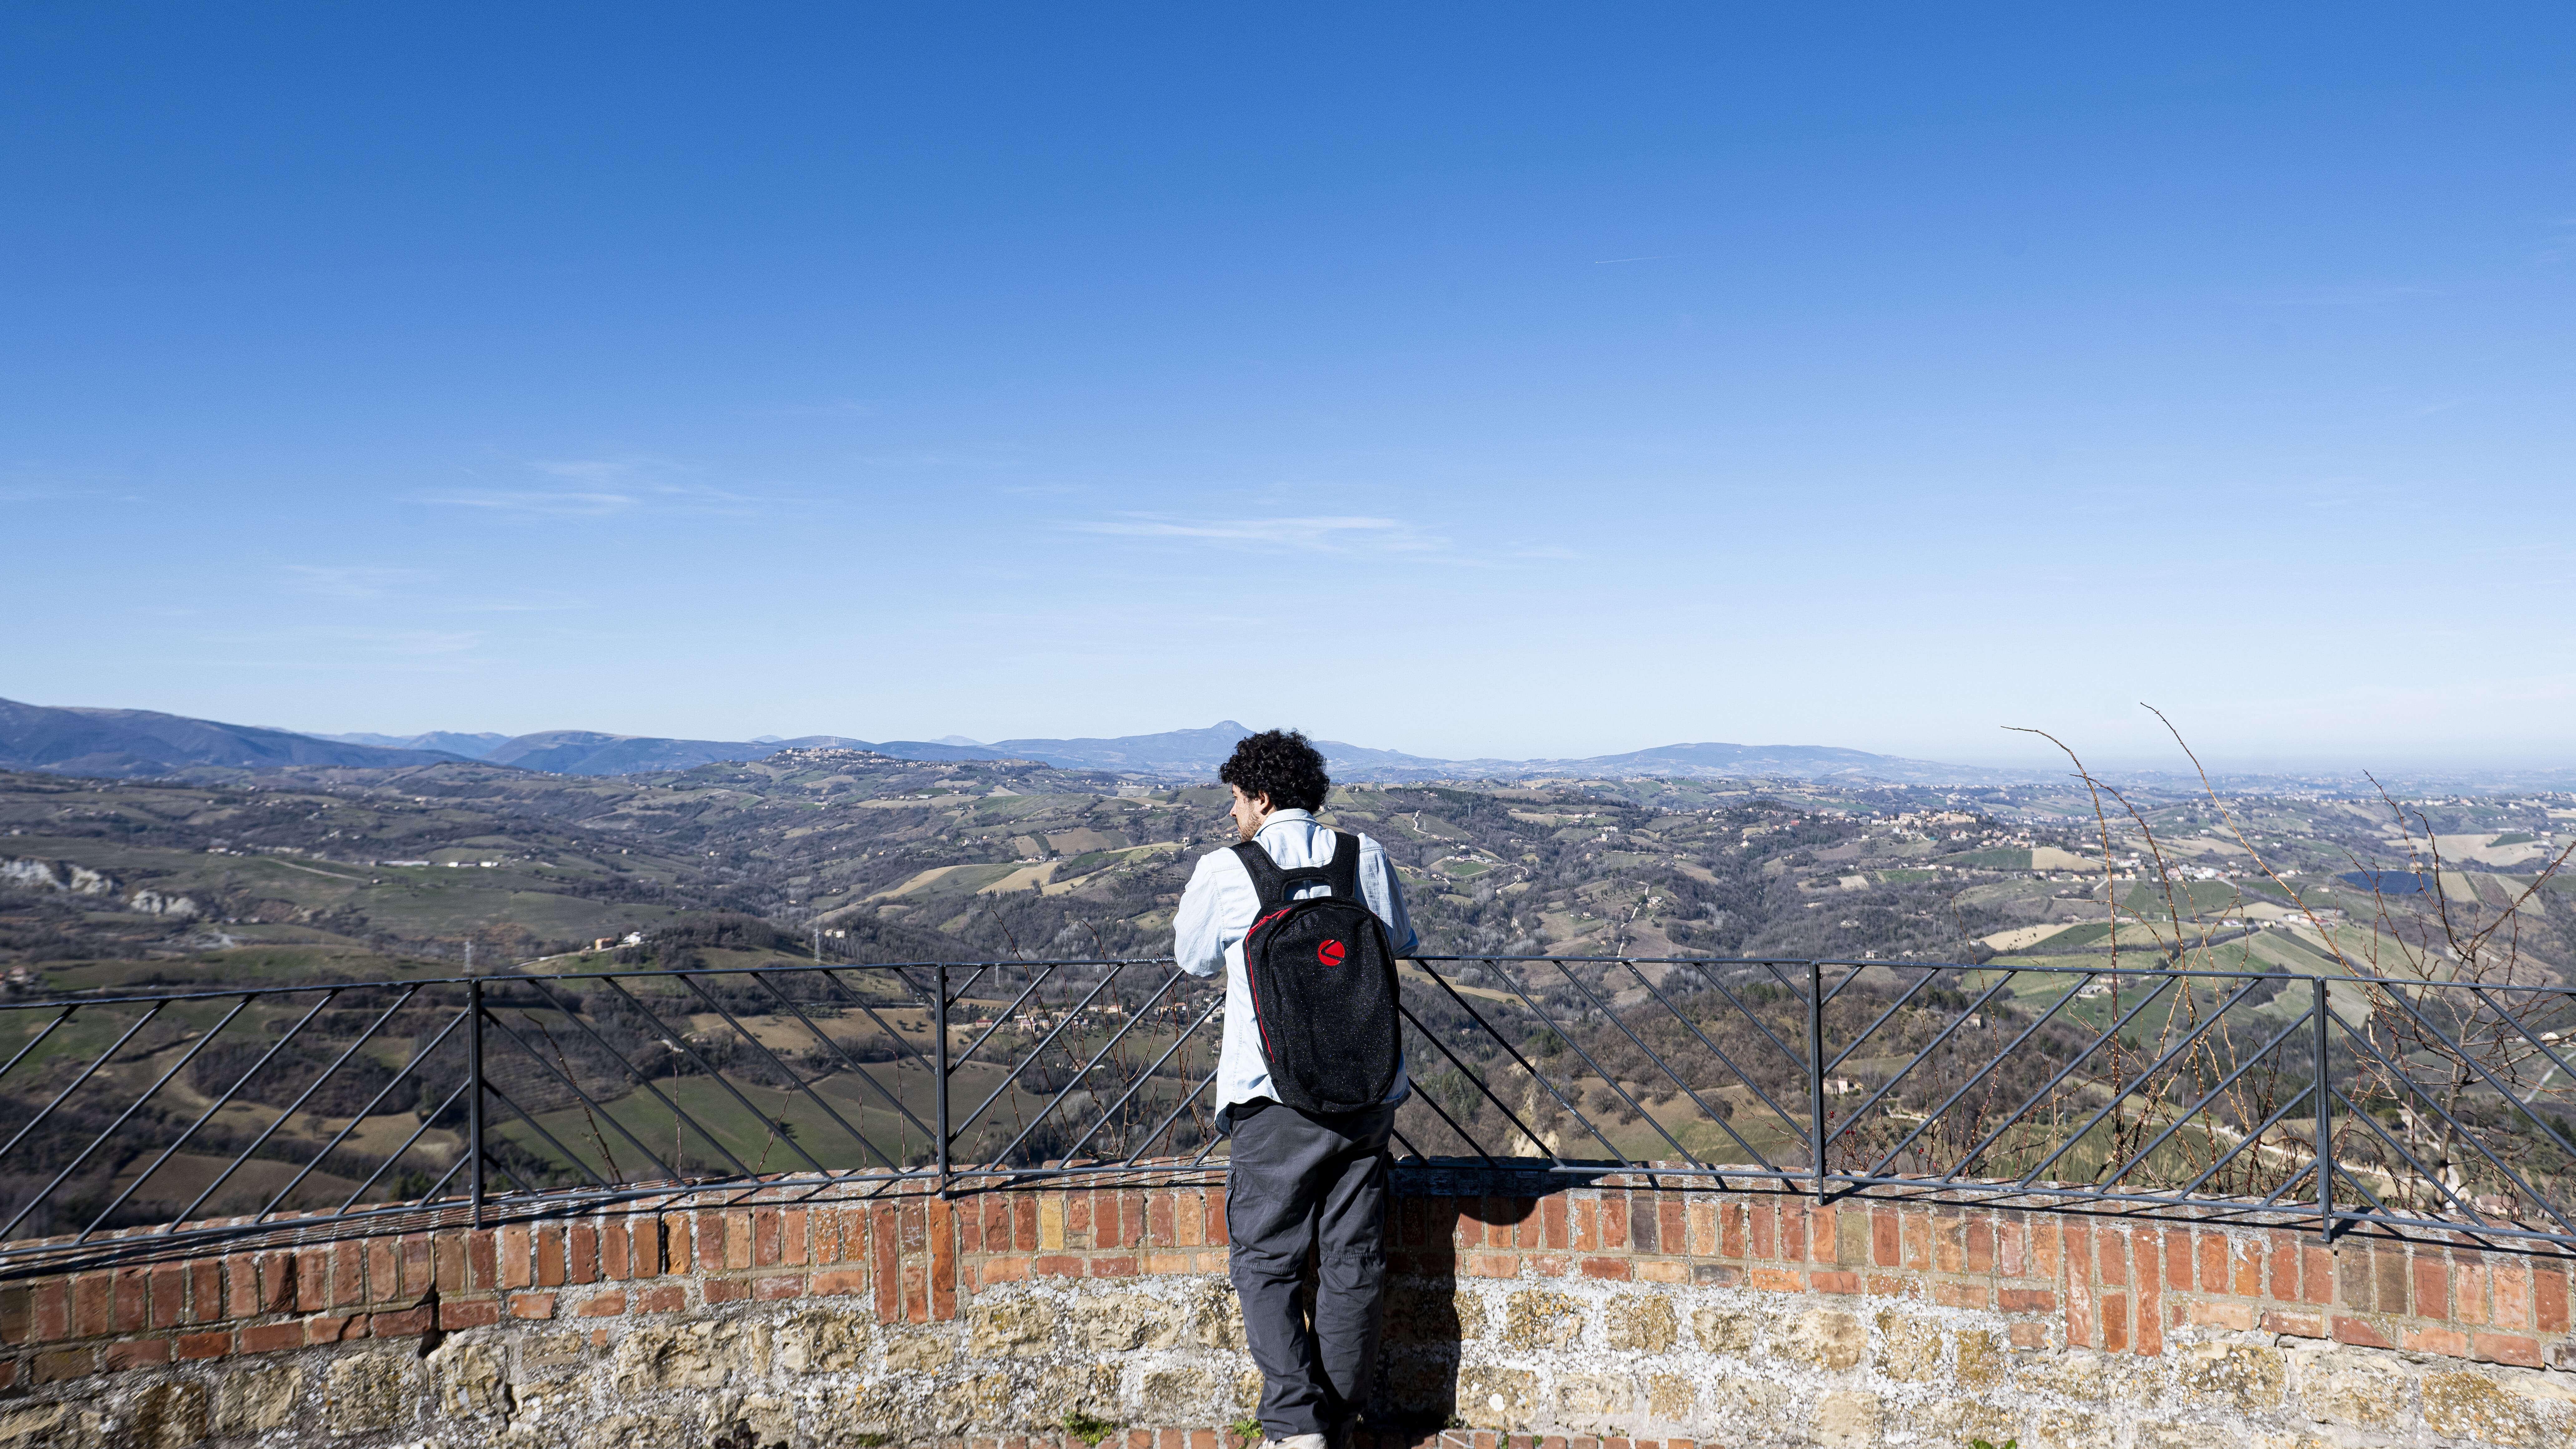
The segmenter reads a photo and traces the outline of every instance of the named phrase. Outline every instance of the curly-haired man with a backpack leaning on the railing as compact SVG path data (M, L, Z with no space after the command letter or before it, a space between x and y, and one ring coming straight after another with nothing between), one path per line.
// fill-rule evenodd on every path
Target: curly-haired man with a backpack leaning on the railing
M1216 779L1234 792L1239 835L1280 871L1334 866L1337 851L1350 846L1314 817L1332 779L1306 735L1249 735L1234 745L1234 758ZM1376 841L1355 841L1360 900L1383 923L1386 946L1409 957L1414 928L1396 871ZM1386 1137L1409 1085L1404 1057L1394 1052L1394 1085L1376 1106L1329 1114L1288 1106L1301 1093L1291 1083L1273 1083L1255 1018L1255 985L1244 967L1244 936L1262 918L1255 869L1257 861L1247 866L1231 848L1198 859L1172 920L1175 957L1180 969L1198 977L1211 977L1218 967L1226 972L1216 1119L1234 1137L1226 1232L1244 1341L1262 1369L1262 1428L1270 1446L1324 1449L1324 1436L1345 1431L1368 1403L1378 1356L1378 1287L1386 1276ZM1347 861L1334 874L1350 879L1345 871ZM1285 895L1311 900L1332 895L1332 887L1303 879ZM1340 949L1329 959L1340 959ZM1298 1305L1309 1250L1316 1256L1311 1325Z

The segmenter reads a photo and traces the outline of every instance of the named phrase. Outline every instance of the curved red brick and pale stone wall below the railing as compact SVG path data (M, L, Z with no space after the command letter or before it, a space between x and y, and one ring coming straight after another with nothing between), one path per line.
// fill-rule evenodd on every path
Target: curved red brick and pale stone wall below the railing
M2576 1444L2571 1263L1406 1173L1388 1444ZM1221 1449L1213 1186L670 1199L0 1289L0 1446ZM1564 1444L1556 1444L1564 1441Z

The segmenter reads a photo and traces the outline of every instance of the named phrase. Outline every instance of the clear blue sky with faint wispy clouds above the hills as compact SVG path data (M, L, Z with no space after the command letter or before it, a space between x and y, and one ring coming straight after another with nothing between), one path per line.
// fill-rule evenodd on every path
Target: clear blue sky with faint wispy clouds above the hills
M2576 18L0 15L0 696L2566 763Z

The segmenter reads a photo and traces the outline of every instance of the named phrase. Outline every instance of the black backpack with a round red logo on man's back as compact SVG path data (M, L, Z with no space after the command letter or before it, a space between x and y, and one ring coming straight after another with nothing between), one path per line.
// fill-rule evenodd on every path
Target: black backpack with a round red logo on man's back
M1332 861L1283 871L1252 841L1234 846L1262 897L1244 933L1252 1018L1270 1093L1298 1111L1358 1111L1386 1101L1404 1067L1396 951L1360 897L1360 838L1332 833ZM1321 882L1332 895L1288 900Z

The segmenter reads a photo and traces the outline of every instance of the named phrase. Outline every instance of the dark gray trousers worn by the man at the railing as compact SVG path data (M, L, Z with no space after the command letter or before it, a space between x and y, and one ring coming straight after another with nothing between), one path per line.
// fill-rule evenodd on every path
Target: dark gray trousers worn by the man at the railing
M1229 1274L1244 1305L1244 1346L1262 1369L1262 1428L1270 1439L1327 1434L1368 1405L1378 1361L1386 1134L1396 1109L1309 1116L1267 1104L1231 1116ZM1309 1250L1311 1325L1298 1302Z

